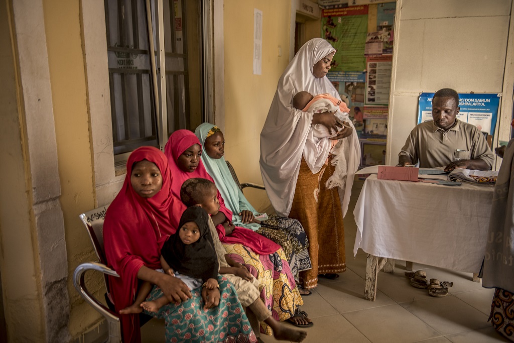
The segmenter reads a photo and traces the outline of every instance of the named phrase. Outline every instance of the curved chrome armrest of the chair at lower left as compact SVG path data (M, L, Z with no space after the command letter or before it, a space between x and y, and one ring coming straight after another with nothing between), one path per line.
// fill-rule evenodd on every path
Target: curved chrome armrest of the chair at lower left
M84 283L84 274L87 270L97 270L100 273L111 275L114 277L120 277L118 273L116 273L113 269L107 267L102 263L89 262L82 263L77 268L75 268L75 272L73 273L73 284L75 289L81 295L84 300L86 300L95 310L97 310L101 315L105 317L107 320L108 328L109 328L109 338L107 342L121 342L121 325L119 316L105 307L100 301L98 301L93 295L89 293ZM108 290L107 290L108 291Z

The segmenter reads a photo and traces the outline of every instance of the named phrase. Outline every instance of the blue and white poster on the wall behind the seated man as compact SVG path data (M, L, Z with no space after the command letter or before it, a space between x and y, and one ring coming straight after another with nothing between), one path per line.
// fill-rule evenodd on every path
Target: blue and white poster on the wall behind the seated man
M418 124L432 120L432 98L434 93L421 93L418 104ZM458 105L461 107L457 119L473 124L482 132L494 135L498 107L500 106L499 94L458 94Z

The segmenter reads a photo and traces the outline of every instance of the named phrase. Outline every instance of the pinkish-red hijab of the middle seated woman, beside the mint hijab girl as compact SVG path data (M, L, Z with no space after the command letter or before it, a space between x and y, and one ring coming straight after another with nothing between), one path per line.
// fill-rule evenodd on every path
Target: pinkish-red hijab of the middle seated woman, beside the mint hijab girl
M168 143L164 147L164 154L168 157L170 170L173 173L174 182L171 187L173 194L180 198L180 187L182 184L190 178L201 177L211 180L214 183L211 175L207 173L204 163L201 159L198 161L198 167L193 172L185 172L177 165L177 160L183 152L193 145L198 144L201 147L200 140L196 135L189 130L177 130L171 134L168 139ZM223 201L222 195L217 192L217 198L219 201L219 211L225 214L226 218L232 220L232 211L230 211ZM230 236L226 236L223 225L217 225L216 230L218 232L219 240L226 244L242 244L248 248L251 248L256 254L268 255L279 250L280 245L273 241L261 236L259 233L254 232L244 227L236 227Z

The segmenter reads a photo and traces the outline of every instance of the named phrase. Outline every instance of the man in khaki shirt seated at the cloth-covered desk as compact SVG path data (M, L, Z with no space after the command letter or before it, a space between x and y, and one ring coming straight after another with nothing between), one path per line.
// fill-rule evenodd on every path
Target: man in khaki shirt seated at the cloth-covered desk
M432 99L432 118L416 125L398 154L398 166L445 167L490 170L494 155L475 125L456 119L458 94L439 89Z

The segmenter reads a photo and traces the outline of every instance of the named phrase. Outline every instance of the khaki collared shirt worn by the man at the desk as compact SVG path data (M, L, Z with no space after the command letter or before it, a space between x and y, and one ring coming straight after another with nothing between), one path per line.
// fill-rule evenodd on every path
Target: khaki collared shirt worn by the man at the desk
M494 155L484 134L475 125L456 120L448 131L437 127L433 120L416 125L411 131L405 146L398 154L399 160L407 156L413 164L419 158L419 167L446 167L452 161L455 150L460 159L481 158L492 167Z

